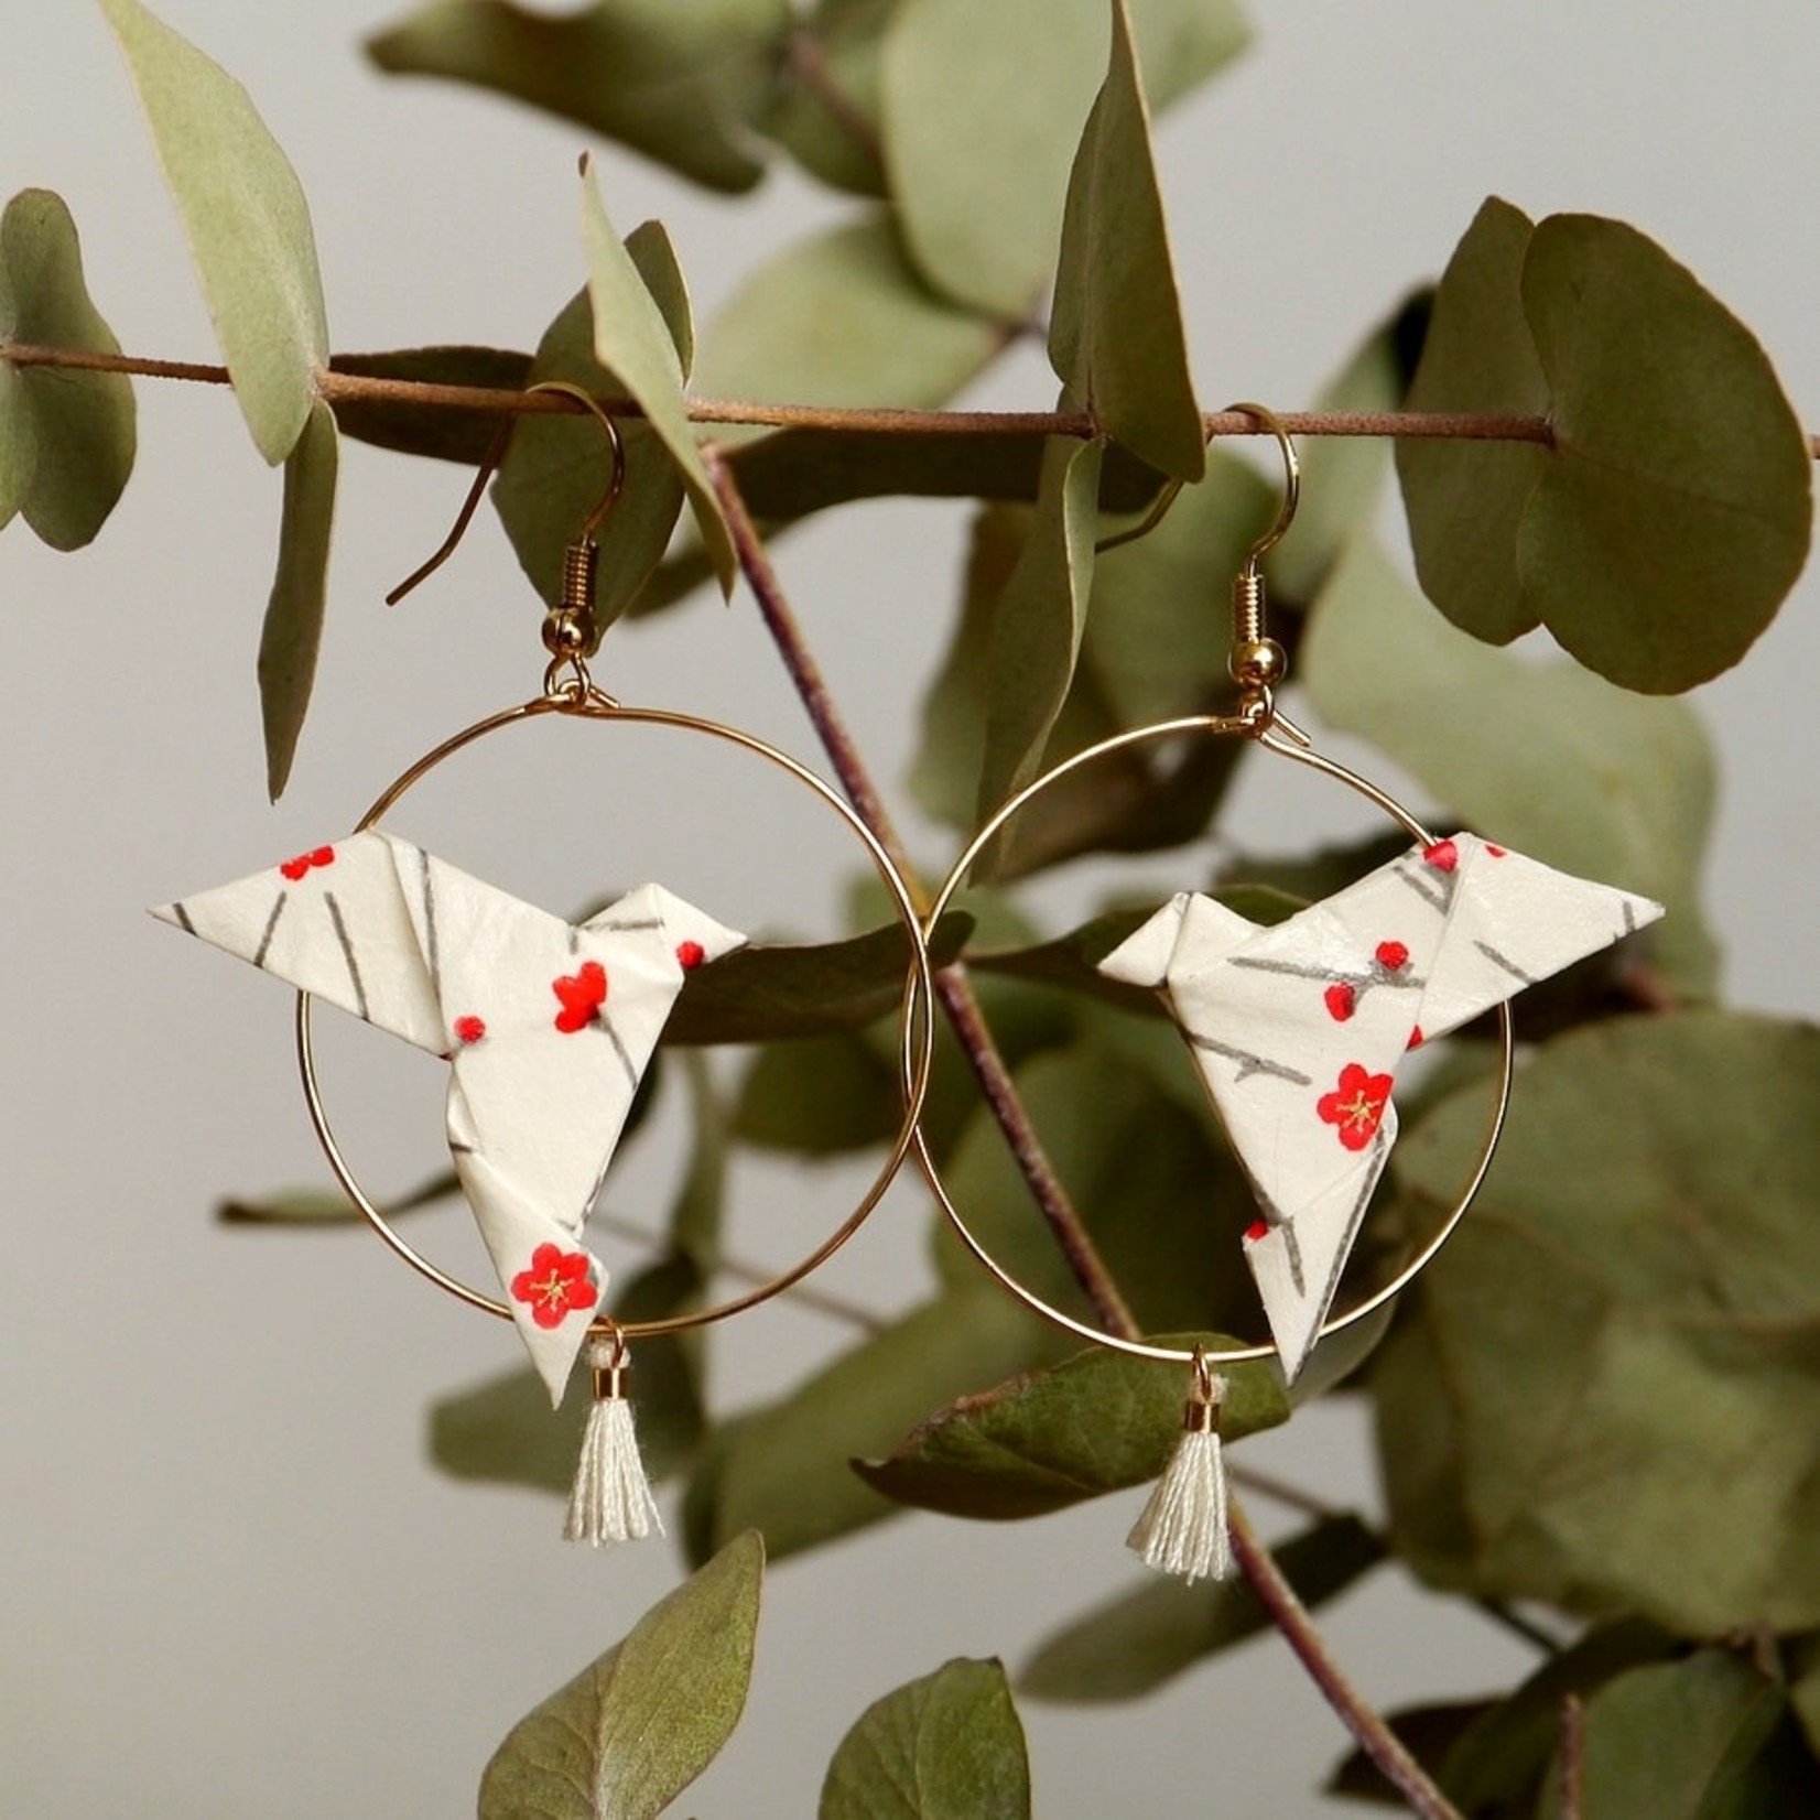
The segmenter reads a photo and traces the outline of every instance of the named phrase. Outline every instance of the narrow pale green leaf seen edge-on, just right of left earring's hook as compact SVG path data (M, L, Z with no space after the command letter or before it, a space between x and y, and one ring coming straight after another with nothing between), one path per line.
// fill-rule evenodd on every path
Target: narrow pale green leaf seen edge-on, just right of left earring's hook
M682 362L639 268L606 218L592 171L581 186L588 295L593 298L595 359L617 373L682 475L703 544L723 593L732 593L737 559L713 482L682 404Z

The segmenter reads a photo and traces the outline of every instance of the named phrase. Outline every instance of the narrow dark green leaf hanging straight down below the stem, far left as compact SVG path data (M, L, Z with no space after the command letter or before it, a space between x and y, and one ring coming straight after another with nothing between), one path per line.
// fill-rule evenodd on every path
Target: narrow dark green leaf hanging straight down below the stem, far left
M258 701L266 726L266 788L277 803L291 775L309 710L328 604L329 531L340 446L335 413L318 399L284 462L278 571L258 635Z

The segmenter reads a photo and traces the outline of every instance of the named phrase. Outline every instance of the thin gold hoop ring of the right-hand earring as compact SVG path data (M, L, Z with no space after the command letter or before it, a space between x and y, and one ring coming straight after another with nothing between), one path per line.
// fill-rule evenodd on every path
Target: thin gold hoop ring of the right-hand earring
M1287 724L1287 723L1285 723ZM1203 735L1216 739L1256 739L1259 746L1279 757L1292 759L1296 764L1307 764L1310 770L1320 772L1323 777L1332 777L1338 783L1347 784L1356 790L1367 801L1381 808L1394 823L1398 823L1414 841L1421 841L1425 846L1432 844L1434 835L1416 821L1414 815L1392 795L1380 790L1378 784L1360 777L1358 772L1347 770L1343 764L1336 764L1332 759L1321 757L1321 753L1310 750L1305 744L1298 744L1285 739L1276 732L1276 715L1269 704L1269 697L1261 703L1249 706L1236 715L1185 715L1176 721L1156 721L1148 726L1136 726L1123 733L1114 733L1110 739L1101 739L1094 746L1087 746L1076 752L1074 757L1063 759L1052 770L1045 772L1036 783L1026 784L1016 795L1008 797L997 810L990 815L986 824L974 835L966 844L966 850L954 863L948 877L943 879L941 890L935 892L935 899L930 905L923 919L923 941L925 950L928 945L930 930L935 928L937 921L946 914L948 905L954 901L954 894L961 888L966 874L972 870L974 861L986 848L986 844L1005 828L1005 824L1026 804L1032 797L1041 795L1050 784L1059 783L1072 772L1081 770L1081 766L1092 764L1096 759L1103 759L1114 752L1123 752L1128 746L1141 746L1152 739L1172 739L1178 735ZM1447 1243L1452 1236L1454 1227L1465 1216L1465 1210L1472 1205L1474 1196L1485 1181L1485 1172L1491 1168L1492 1154L1498 1148L1498 1138L1503 1132L1503 1117L1511 1105L1511 1074L1516 1061L1516 1028L1511 1021L1509 1001L1498 1006L1498 1030L1502 1037L1502 1067L1498 1072L1498 1096L1491 1110L1491 1119L1485 1127L1485 1139L1480 1145L1478 1159L1472 1165L1471 1178L1467 1181L1465 1192L1452 1205L1447 1218L1441 1221L1440 1228L1416 1250L1414 1258L1403 1265L1398 1274L1385 1283L1381 1289L1367 1296L1356 1309L1349 1309L1345 1314L1334 1314L1321 1323L1320 1332L1314 1336L1316 1345L1327 1340L1330 1334L1338 1334L1347 1327L1363 1321L1369 1314L1376 1314L1387 1301L1401 1294L1414 1279L1429 1267L1434 1254ZM908 1088L912 1072L910 1065L914 1059L914 1045L910 1041L908 1019L905 1025L905 1048L903 1048L903 1079ZM1134 1358L1147 1360L1168 1360L1179 1365L1194 1365L1196 1370L1201 1369L1201 1361L1210 1369L1214 1365L1243 1365L1252 1360L1269 1360L1278 1356L1276 1345L1254 1345L1254 1347L1228 1347L1225 1350L1208 1350L1205 1347L1159 1347L1147 1340L1127 1340L1121 1334L1108 1334L1105 1329L1090 1327L1087 1321L1076 1320L1072 1314L1065 1314L1061 1309L1045 1301L1034 1290L1019 1283L979 1241L979 1238L966 1225L961 1210L954 1205L946 1185L941 1179L941 1170L935 1167L935 1159L928 1154L928 1145L923 1141L921 1130L915 1132L912 1139L912 1148L915 1150L917 1167L923 1170L923 1178L928 1181L930 1192L935 1196L935 1203L941 1207L954 1227L956 1236L961 1243L979 1259L985 1269L997 1278L997 1281L1008 1289L1026 1309L1039 1314L1045 1321L1054 1327L1061 1327L1065 1332L1076 1334L1081 1340L1090 1340L1094 1345L1110 1347L1116 1352L1128 1352Z

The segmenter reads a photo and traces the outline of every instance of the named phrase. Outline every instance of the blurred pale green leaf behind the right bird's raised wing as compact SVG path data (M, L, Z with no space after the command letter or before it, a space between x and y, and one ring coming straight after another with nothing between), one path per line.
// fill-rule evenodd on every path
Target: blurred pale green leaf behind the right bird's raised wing
M1713 990L1700 875L1714 766L1691 706L1436 624L1369 542L1321 590L1301 681L1329 726L1372 741L1487 837L1665 903L1651 954L1680 990Z

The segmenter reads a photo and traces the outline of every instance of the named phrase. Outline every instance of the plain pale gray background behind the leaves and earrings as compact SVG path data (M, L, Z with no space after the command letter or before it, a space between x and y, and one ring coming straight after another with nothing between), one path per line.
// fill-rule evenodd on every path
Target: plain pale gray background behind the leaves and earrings
M7 193L44 184L71 202L95 295L129 349L213 359L96 11L4 11ZM1656 235L1762 333L1820 422L1809 5L1256 11L1252 55L1163 129L1208 402L1309 402L1498 191L1532 215L1594 209ZM389 16L380 0L166 0L164 15L248 82L289 149L337 346L528 346L579 282L584 136L373 75L355 44ZM786 173L757 207L699 200L612 149L602 187L622 228L664 215L703 315L768 246L837 209ZM1026 360L992 399L1043 404L1048 382ZM333 834L433 737L524 692L535 608L484 522L430 593L382 612L384 588L440 535L459 477L351 448L317 721L291 795L268 808L251 668L278 482L226 393L147 384L140 400L142 468L100 546L51 557L22 524L0 546L0 1811L457 1815L497 1738L675 1582L675 1556L564 1549L550 1502L424 1467L426 1400L510 1363L502 1330L364 1234L211 1227L222 1190L320 1174L288 1006L142 906ZM943 637L959 524L948 508L852 511L783 553L886 777L901 774ZM1731 986L1805 1014L1820 1008L1813 608L1809 582L1744 670L1704 692L1725 748L1711 910L1733 943ZM613 679L810 746L744 602L695 604L628 637ZM471 763L468 801L455 792L442 821L459 857L480 870L491 841L530 892L550 843L513 848L535 790L526 766L497 761ZM590 795L612 783L606 759L571 748L562 763L584 766ZM666 801L661 775L633 794L633 808ZM668 801L677 864L761 819ZM753 885L761 921L832 928L832 857L810 885L792 864L770 899ZM763 854L748 866L766 870ZM426 1067L351 1045L337 1076L349 1101L360 1079L377 1090L402 1076L417 1096L397 1132L349 1112L382 1179L435 1161ZM672 1165L659 1156L653 1183ZM804 1218L839 1192L812 1181ZM875 1307L912 1299L921 1225L914 1196L895 1201L839 1281ZM797 1312L746 1327L724 1354L730 1401L837 1338ZM1249 1452L1338 1502L1376 1503L1349 1410L1303 1414ZM870 1698L948 1654L1017 1662L1052 1622L1132 1583L1117 1545L1128 1516L1108 1503L1017 1529L905 1520L779 1569L746 1724L688 1811L810 1813ZM1327 1629L1385 1705L1507 1684L1525 1660L1390 1572ZM1356 1811L1310 1793L1343 1738L1274 1642L1128 1711L1032 1705L1026 1718L1045 1820Z

